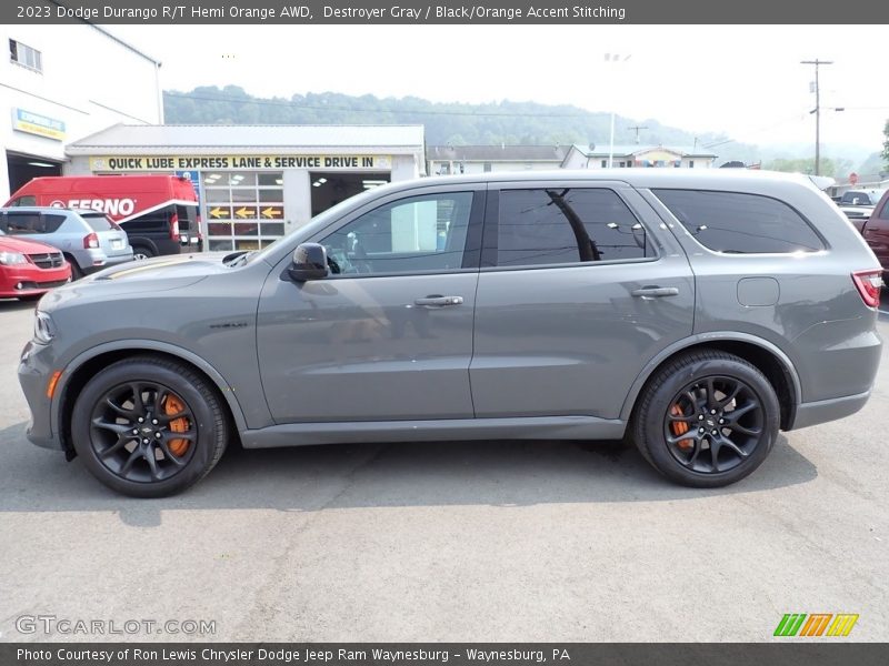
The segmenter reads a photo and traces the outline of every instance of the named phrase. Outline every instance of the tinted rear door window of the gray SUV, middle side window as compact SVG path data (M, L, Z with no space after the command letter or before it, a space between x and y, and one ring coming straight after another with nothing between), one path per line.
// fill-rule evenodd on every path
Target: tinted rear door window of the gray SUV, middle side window
M612 190L503 190L497 265L652 256L646 231Z

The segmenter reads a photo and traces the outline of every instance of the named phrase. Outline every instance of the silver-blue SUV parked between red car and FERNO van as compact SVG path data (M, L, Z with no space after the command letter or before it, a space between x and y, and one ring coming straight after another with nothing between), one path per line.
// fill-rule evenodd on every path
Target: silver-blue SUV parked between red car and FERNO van
M97 211L0 209L0 231L61 250L74 279L133 259L127 233Z

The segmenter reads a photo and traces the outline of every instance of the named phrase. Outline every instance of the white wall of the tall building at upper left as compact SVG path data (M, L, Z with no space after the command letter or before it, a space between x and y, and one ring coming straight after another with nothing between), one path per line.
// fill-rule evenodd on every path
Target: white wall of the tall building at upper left
M40 51L43 71L12 62L10 39ZM64 160L66 143L109 125L162 122L154 63L96 28L0 26L0 200L9 196L7 150ZM64 139L14 131L16 108L61 120Z

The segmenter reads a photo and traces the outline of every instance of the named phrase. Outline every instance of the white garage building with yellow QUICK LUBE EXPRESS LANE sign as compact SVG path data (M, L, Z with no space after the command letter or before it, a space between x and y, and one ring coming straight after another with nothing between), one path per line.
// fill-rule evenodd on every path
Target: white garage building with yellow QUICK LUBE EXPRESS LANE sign
M68 144L66 175L191 179L204 248L253 250L366 189L424 175L422 125L130 125Z

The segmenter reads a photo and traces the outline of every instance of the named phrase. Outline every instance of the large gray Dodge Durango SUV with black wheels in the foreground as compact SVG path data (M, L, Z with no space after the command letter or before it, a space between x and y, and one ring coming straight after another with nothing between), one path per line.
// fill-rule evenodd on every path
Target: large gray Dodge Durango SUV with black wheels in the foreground
M136 496L226 445L632 440L722 486L867 402L880 265L805 176L483 174L349 199L259 251L54 290L28 437ZM113 317L108 313L113 312Z

